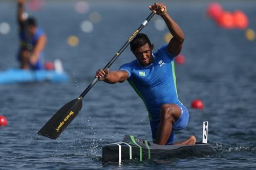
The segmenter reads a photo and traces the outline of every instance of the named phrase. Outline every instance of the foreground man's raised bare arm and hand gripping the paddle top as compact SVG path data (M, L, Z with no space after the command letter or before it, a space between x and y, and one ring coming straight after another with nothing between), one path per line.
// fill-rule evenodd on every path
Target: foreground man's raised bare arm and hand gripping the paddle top
M164 4L155 3L150 6L150 9L156 11L157 15L160 15L165 21L170 33L173 35L173 38L169 41L167 50L170 54L178 56L182 50L182 44L185 39L184 33L178 26L178 24L169 16L167 13L167 8Z

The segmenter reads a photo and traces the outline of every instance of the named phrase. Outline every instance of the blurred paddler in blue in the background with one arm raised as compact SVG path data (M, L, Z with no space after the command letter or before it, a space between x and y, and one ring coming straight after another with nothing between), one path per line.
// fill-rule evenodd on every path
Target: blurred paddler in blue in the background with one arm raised
M36 20L26 18L24 13L25 0L17 0L20 48L18 61L22 69L44 69L42 51L46 46L47 37L44 31L37 28Z

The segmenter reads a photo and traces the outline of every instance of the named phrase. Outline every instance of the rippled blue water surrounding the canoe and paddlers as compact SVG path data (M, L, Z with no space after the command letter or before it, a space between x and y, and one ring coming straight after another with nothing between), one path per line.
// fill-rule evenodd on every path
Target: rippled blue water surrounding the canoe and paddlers
M179 99L188 107L190 119L176 138L181 140L193 134L200 141L202 123L208 120L208 141L216 147L214 154L103 166L103 144L120 141L124 134L151 140L146 109L127 82L98 82L83 99L81 113L57 140L37 135L56 110L87 87L95 71L114 56L150 13L147 5L151 5L147 1L89 4L90 12L102 15L92 33L80 30L81 21L89 19L89 14L76 13L74 2L47 2L40 11L30 11L48 35L46 60L60 58L71 80L62 84L0 86L0 114L9 120L7 127L0 128L0 169L255 169L256 41L247 41L244 31L218 28L206 17L205 2L166 4L186 36L182 51L186 63L176 66L176 76ZM222 5L226 10L245 11L250 28L256 29L255 2ZM17 66L15 7L13 2L0 4L0 22L11 26L9 34L0 34L1 70ZM167 29L155 29L157 18L143 32L160 47ZM67 44L70 35L79 37L78 46ZM125 50L111 68L118 69L132 59L130 51ZM203 110L189 107L197 98L204 101Z

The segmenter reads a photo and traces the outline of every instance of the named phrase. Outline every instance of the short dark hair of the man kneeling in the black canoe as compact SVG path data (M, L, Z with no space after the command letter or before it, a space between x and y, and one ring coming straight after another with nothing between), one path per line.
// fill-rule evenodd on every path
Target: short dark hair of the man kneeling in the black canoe
M131 51L134 52L137 48L145 45L146 43L151 46L150 39L147 35L143 33L137 34L130 44Z

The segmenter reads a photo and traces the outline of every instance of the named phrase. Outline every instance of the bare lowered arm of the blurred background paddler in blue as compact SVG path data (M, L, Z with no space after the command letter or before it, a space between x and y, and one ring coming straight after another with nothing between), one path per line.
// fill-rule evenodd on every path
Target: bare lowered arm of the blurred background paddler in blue
M35 44L35 47L33 49L32 55L30 57L30 62L31 64L35 64L39 58L40 53L42 50L44 50L47 42L47 37L45 34L41 35Z

